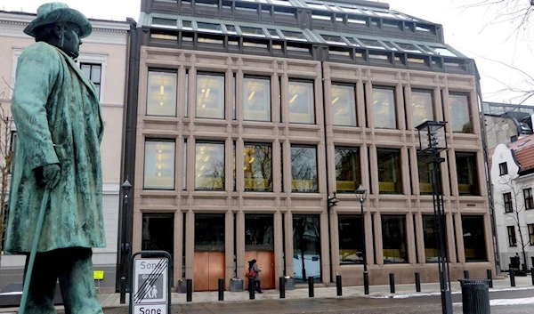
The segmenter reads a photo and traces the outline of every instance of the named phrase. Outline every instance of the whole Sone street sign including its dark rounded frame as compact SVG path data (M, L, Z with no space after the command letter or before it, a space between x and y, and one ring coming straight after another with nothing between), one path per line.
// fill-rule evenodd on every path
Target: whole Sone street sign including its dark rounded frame
M137 255L143 257L136 259ZM165 251L140 251L132 255L130 314L171 314L172 262Z

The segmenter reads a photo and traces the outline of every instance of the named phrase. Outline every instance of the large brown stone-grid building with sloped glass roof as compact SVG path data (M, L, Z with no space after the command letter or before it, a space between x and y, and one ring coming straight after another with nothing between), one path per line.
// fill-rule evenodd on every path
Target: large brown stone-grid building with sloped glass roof
M360 0L143 0L141 11L125 242L172 254L174 284L228 287L256 259L265 288L283 275L362 285L363 247L371 285L390 273L436 282L426 120L447 122L451 280L494 269L478 75L441 25Z

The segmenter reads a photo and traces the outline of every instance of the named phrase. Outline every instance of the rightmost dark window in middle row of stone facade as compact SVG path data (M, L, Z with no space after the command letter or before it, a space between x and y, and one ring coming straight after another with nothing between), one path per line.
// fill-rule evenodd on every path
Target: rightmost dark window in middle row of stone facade
M460 195L480 195L475 153L457 153L457 176Z

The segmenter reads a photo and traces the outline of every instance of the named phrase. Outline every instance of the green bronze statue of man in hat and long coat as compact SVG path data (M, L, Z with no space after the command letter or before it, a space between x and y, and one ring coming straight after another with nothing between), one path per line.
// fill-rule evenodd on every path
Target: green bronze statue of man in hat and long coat
M19 58L12 115L17 126L4 250L29 254L49 189L27 313L55 313L59 278L66 313L102 313L93 247L105 247L101 205L101 108L78 68L80 38L92 26L67 4L41 5L24 32L36 38Z

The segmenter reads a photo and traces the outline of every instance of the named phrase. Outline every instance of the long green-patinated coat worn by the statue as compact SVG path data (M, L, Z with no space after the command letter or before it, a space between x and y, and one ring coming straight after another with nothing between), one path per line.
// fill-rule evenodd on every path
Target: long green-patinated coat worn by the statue
M51 191L38 252L106 246L102 213L101 108L94 85L51 44L29 46L19 58L12 115L17 126L4 250L28 253L44 187L37 167L61 166Z

